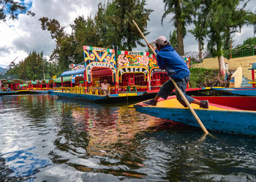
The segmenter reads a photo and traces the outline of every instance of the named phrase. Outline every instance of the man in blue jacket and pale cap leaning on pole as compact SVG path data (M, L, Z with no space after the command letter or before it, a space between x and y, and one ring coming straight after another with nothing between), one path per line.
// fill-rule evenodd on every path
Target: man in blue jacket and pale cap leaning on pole
M165 36L158 36L156 40L153 41L153 44L157 47L157 65L159 68L165 69L168 76L170 76L181 91L184 93L185 97L189 101L189 103L196 103L201 108L208 108L208 100L197 100L189 95L186 95L186 87L189 82L190 71L187 67L187 64L181 58L180 55L174 50L174 48L169 44ZM152 44L148 44L148 47L154 46ZM155 50L155 49L154 49ZM159 98L167 99L171 92L175 89L173 82L169 79L165 82L160 88L157 96L146 102L143 102L146 105L157 106L157 101ZM176 92L177 100L184 106L187 107L184 100L181 98L181 95Z

